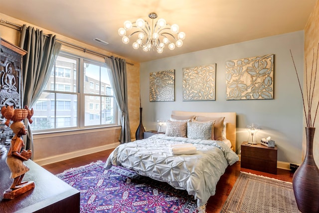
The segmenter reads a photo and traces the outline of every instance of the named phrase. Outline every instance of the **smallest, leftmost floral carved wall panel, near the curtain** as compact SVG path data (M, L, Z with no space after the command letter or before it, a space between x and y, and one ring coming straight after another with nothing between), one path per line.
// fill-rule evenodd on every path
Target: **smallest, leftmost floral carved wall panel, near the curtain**
M175 70L150 73L150 101L175 101Z

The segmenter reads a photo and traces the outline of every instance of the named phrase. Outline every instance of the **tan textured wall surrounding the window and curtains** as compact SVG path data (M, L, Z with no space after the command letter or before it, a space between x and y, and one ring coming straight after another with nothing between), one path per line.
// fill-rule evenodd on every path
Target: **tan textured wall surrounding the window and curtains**
M106 50L96 48L85 43L79 42L77 40L65 37L63 35L57 34L55 32L51 32L44 28L35 26L33 24L27 23L23 20L19 20L8 15L0 13L0 20L8 21L17 25L30 25L36 28L43 30L44 34L55 34L58 39L63 41L67 41L87 49L94 50L96 52L102 53L104 55L114 55L116 57L121 57L115 55ZM16 29L12 29L10 27L4 26L0 24L0 37L18 45L19 41L19 31ZM71 47L67 47L62 45L62 50L66 50L68 52L84 56L90 59L98 60L104 62L104 58L100 56L95 56L90 53L85 53L81 50L77 50ZM124 57L121 57L124 58ZM135 131L139 125L139 107L140 107L140 63L136 61L132 61L128 58L125 58L127 62L133 63L134 65L127 64L127 80L128 80L128 104L129 104L129 119L130 119L130 130L131 130L131 138L135 140ZM34 112L36 114L36 112ZM114 144L118 142L119 134L121 129L118 128L104 128L103 131L101 129L92 130L91 132L81 132L78 131L76 135L73 134L59 134L56 136L52 136L49 134L46 137L46 134L43 135L34 135L34 160L50 158L52 156L63 155L70 152L79 152L80 150L89 149L92 147L100 147L105 146L107 144Z

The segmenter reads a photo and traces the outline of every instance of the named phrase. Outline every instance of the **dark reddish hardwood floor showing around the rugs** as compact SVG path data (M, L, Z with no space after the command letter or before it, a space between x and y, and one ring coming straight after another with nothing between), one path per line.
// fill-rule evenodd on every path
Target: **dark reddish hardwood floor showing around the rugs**
M89 163L96 162L98 160L106 161L107 157L110 155L112 151L113 150L106 150L90 155L85 155L78 158L69 159L63 162L45 165L43 166L43 168L56 175L62 173L67 169L84 166ZM228 195L230 194L231 189L233 188L236 182L237 177L240 174L240 171L256 175L262 175L265 177L275 178L288 182L292 182L293 179L293 174L288 170L277 169L277 175L273 175L269 173L240 168L240 162L237 162L234 165L229 166L226 169L224 175L218 181L218 184L216 186L216 194L210 197L210 199L207 202L207 213L219 213L221 211Z

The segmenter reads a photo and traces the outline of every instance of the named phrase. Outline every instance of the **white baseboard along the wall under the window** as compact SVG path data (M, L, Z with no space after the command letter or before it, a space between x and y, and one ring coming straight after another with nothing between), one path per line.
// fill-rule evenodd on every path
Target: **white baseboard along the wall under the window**
M119 144L120 143L113 143L113 144L107 144L107 145L99 146L99 147L92 147L89 149L79 150L79 151L75 151L75 152L69 152L69 153L65 153L62 155L55 155L55 156L51 156L48 158L37 159L37 160L34 160L34 162L40 166L47 165L47 164L53 164L53 163L65 161L65 160L68 160L71 158L76 158L76 157L80 157L83 155L88 155L88 154L101 152L101 151L108 150L108 149L113 149L113 148L116 148L117 146L119 146Z

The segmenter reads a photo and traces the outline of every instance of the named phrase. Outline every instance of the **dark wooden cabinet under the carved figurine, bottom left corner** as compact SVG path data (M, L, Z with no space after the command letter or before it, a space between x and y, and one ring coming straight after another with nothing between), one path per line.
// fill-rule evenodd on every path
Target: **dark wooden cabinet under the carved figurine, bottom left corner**
M5 163L6 153L0 155L0 212L1 213L79 213L80 192L69 186L50 172L31 160L25 161L30 171L25 173L23 181L33 181L34 189L16 197L5 200L3 192L13 179Z

